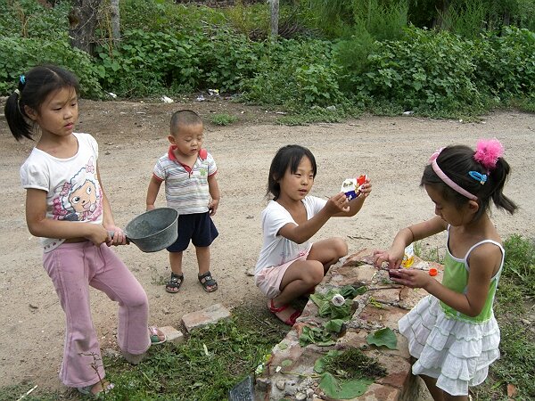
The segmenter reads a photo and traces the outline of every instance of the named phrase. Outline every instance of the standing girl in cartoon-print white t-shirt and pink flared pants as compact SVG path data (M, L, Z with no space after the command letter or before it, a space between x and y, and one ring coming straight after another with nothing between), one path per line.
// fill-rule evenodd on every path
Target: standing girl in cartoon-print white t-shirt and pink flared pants
M119 303L117 340L128 362L139 363L165 335L148 327L144 289L109 248L127 239L101 185L95 138L73 132L78 92L78 78L70 71L37 66L21 76L4 111L17 141L40 134L21 167L21 182L29 232L41 239L43 264L66 317L60 379L96 396L113 385L104 380L89 286Z

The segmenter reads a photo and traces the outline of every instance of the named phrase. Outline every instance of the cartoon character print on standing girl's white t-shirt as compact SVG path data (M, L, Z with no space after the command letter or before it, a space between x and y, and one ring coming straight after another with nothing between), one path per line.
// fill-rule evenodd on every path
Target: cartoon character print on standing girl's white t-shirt
M94 221L103 212L93 157L55 192L59 192L53 199L53 218L57 220Z

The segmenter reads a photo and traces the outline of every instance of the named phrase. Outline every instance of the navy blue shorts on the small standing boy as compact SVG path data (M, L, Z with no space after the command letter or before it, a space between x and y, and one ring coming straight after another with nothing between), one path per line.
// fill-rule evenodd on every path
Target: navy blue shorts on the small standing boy
M178 238L167 248L169 252L186 250L191 240L196 247L209 247L218 238L218 229L209 212L178 216Z

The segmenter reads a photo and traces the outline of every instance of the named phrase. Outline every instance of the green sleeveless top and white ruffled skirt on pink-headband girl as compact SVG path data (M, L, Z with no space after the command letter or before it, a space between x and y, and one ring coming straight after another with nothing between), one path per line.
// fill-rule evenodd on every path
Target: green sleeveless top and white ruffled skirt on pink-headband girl
M502 252L502 261L490 280L480 315L463 315L428 295L399 320L399 332L407 337L410 355L417 358L412 372L436 378L437 387L452 396L468 395L468 387L481 384L490 364L499 358L499 328L492 303L504 265L503 247L496 241L484 240L473 245L462 259L454 258L448 247L442 284L465 293L470 274L467 259L482 243L495 244Z

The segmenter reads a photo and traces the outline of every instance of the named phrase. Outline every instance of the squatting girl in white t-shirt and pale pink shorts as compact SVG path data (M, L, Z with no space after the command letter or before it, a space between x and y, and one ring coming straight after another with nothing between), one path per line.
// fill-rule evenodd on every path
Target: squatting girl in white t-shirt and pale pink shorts
M268 207L262 211L263 245L255 268L255 283L268 297L268 308L293 325L300 311L289 303L313 291L325 273L348 253L342 238L314 243L309 239L331 217L358 213L372 191L366 179L361 195L348 201L343 192L329 200L309 196L317 166L309 149L287 145L276 152L268 176Z

